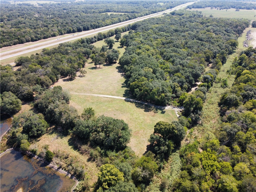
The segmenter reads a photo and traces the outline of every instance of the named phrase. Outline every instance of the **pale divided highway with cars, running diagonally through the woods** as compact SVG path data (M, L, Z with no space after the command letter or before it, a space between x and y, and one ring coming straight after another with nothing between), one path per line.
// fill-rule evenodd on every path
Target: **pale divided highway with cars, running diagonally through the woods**
M38 43L38 41L35 41L35 42L33 42L32 45L31 45L31 42L30 42L29 46L27 46L28 43L25 43L25 44L22 44L21 48L12 49L12 47L4 47L4 48L0 49L0 60L4 60L4 59L11 58L11 57L16 57L16 56L19 56L19 55L27 54L27 53L32 52L32 51L37 51L37 50L47 48L47 47L50 47L50 46L54 46L54 45L58 45L60 43L64 43L64 42L67 42L67 41L80 39L82 37L87 37L87 36L90 36L90 35L94 35L94 34L97 34L99 32L102 32L102 31L106 31L106 30L126 26L126 25L132 24L132 23L137 22L137 21L142 21L144 19L148 19L150 17L156 17L159 14L172 12L175 9L176 10L181 9L182 7L191 5L193 3L194 2L185 3L185 4L182 4L182 5L176 6L172 9L167 9L167 10L162 11L162 12L154 13L154 14L151 14L151 15L146 15L146 16L143 16L143 17L140 17L140 18L124 21L124 22L121 22L121 23L117 23L117 24L113 24L113 25L109 25L109 26L105 26L105 27L101 27L101 28L98 28L98 29L83 31L83 32L80 32L79 34L76 34L76 35L68 35L66 37L61 37L59 39L57 39L58 37L55 37L55 39L53 39L53 40L49 40L49 41L41 42L41 43ZM19 45L21 45L21 44L19 44ZM5 51L6 49L8 49L8 50ZM10 50L10 49L12 49L12 50ZM11 64L14 64L14 63L11 63Z

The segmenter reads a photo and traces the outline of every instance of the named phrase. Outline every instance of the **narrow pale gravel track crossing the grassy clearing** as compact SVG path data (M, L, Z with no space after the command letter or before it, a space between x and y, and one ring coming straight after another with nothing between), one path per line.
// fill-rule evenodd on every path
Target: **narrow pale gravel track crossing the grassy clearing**
M155 107L155 108L158 108L158 109L173 109L173 110L183 110L184 108L183 107L175 107L175 106L159 106L159 105L154 105L154 104L151 104L151 103L147 103L147 102L144 102L144 101L137 101L137 100L134 100L134 99L129 99L129 98L125 98L125 97L118 97L118 96L113 96L113 95L101 95L101 94L91 94L91 93L75 93L75 92L70 92L70 94L74 94L74 95L90 95L90 96L96 96L96 97L108 97L108 98L114 98L114 99L122 99L122 100L125 100L125 101L131 101L131 102L136 102L136 103L141 103L141 104L144 104L144 105L149 105L149 106L152 106L152 107Z

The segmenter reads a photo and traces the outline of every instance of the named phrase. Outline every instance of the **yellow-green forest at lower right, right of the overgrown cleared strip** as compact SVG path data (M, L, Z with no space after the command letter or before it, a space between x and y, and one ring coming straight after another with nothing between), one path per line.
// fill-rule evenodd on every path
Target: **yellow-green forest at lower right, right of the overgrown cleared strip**
M246 192L256 189L256 49L241 51L228 71L231 89L221 95L215 138L189 142L180 151L181 172L172 191ZM199 147L203 151L199 152Z

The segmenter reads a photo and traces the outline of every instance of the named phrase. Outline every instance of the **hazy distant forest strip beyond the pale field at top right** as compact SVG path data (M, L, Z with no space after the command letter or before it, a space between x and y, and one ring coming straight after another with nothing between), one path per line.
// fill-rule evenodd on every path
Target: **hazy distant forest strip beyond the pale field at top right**
M234 1L199 1L193 3L192 5L188 5L186 8L218 8L218 9L256 9L256 5L248 2L234 2Z

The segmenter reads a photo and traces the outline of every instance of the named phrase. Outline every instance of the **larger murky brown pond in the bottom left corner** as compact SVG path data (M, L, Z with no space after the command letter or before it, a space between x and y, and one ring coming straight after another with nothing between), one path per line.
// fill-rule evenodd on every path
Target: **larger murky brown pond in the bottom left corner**
M1 156L1 192L70 191L74 180L17 151Z

